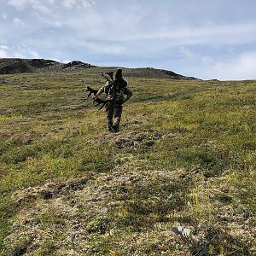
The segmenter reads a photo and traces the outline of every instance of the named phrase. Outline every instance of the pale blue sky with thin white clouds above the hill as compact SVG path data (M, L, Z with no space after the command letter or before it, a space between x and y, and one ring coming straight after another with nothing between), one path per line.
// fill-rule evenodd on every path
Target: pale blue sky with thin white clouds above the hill
M256 0L0 0L0 58L256 79Z

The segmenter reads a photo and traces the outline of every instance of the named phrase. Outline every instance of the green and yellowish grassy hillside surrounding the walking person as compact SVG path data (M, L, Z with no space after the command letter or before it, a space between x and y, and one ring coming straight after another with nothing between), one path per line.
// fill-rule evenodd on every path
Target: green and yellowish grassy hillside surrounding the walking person
M0 76L1 255L256 253L256 82L128 82L109 134L97 68Z

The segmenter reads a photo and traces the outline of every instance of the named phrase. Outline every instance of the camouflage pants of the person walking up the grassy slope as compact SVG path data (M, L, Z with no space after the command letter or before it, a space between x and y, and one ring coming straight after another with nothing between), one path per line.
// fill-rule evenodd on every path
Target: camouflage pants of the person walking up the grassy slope
M122 111L122 104L116 102L108 102L106 105L108 131L119 131Z

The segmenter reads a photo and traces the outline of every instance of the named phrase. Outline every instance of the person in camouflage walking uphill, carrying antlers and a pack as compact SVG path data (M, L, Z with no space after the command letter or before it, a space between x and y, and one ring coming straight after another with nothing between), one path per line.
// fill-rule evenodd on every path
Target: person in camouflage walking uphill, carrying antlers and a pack
M113 73L107 74L111 78L108 80L113 80ZM121 68L117 69L113 82L110 81L107 81L107 83L103 85L100 90L98 90L96 95L93 96L93 99L96 100L96 98L103 92L105 92L107 99L112 99L111 102L106 104L107 128L108 131L118 132L123 111L123 104L131 98L132 92L127 88L127 81L123 79ZM124 97L124 95L126 97Z

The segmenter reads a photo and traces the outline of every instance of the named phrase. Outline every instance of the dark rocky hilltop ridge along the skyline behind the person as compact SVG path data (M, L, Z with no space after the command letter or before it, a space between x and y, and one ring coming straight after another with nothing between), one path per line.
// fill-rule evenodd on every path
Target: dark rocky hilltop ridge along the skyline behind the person
M44 59L0 59L0 74L15 73L42 73L42 72L79 72L86 68L116 69L117 67L96 67L82 61L61 63ZM126 76L147 79L182 79L191 80L181 74L164 69L147 68L124 68Z

